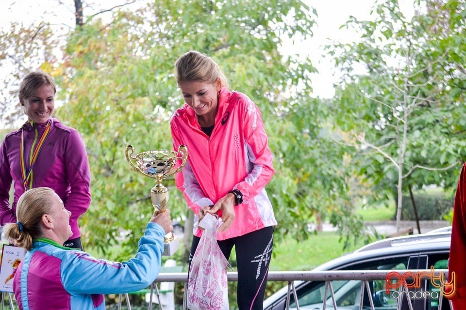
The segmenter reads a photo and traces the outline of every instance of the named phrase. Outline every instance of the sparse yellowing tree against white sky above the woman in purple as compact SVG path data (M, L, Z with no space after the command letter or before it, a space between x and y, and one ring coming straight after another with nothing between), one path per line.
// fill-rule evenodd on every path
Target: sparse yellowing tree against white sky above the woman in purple
M62 61L62 50L70 31L83 25L83 9L93 12L91 17L96 17L133 4L136 0L126 0L122 4L105 8L99 5L99 1L85 2L83 4L82 0L43 0L41 5L46 9L41 12L41 18L35 20L29 16L19 16L19 19L27 22L12 21L9 27L0 30L0 68L2 72L8 73L4 74L3 87L0 87L0 107L3 111L0 120L3 126L16 126L18 120L24 119L17 99L17 90L21 79L27 73L39 67L52 75L60 73L54 71ZM10 11L17 11L21 4L11 1L6 13L12 14ZM69 16L63 16L62 12L68 12Z

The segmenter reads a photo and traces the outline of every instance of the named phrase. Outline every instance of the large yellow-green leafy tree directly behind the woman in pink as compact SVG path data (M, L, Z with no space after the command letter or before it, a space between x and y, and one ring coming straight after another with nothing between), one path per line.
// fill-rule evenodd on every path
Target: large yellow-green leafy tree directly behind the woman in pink
M283 57L279 46L283 36L306 35L312 26L312 12L298 1L167 0L119 10L110 21L92 18L71 33L55 77L67 102L58 115L83 134L93 175L83 239L105 250L125 233L121 255L133 251L151 213L148 197L154 181L131 171L124 149L127 144L136 153L171 148L168 120L183 102L173 69L181 54L196 49L221 65L232 88L260 107L275 151L284 140L274 138L283 111L312 104L308 74L314 71L309 60ZM268 190L282 228L289 225L290 214L303 223L310 206L303 201L292 208L294 195L282 197L296 173L279 157ZM165 184L172 216L186 216L181 193L172 180Z

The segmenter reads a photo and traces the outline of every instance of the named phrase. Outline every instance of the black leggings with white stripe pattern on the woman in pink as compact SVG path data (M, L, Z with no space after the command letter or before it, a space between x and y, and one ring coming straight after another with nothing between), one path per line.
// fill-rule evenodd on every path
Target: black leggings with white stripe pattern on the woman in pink
M189 267L199 241L200 237L193 236ZM238 309L263 310L268 266L273 248L273 226L217 243L227 260L230 258L233 246L235 249L238 269L236 290Z

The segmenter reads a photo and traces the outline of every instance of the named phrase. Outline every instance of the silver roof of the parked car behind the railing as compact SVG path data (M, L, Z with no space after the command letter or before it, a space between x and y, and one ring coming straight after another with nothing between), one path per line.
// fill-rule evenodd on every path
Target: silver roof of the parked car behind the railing
M439 250L448 252L450 248L450 239L451 230L441 231L439 233L429 232L378 240L346 255L335 258L327 263L323 263L313 270L336 270L338 269L338 266L343 266L360 260L383 257L388 254L395 256L407 253L426 253Z

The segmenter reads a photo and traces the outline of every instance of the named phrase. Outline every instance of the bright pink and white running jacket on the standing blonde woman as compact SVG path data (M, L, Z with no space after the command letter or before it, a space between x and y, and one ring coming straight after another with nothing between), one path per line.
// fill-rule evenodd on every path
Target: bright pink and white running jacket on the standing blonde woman
M195 111L187 104L173 114L170 126L173 148L178 150L183 144L188 150L186 165L175 180L195 214L232 189L243 194L243 202L234 208L232 226L218 232L217 240L277 225L265 190L274 174L272 153L261 112L248 96L221 89L210 137L202 132ZM196 236L202 234L198 220L195 217Z

